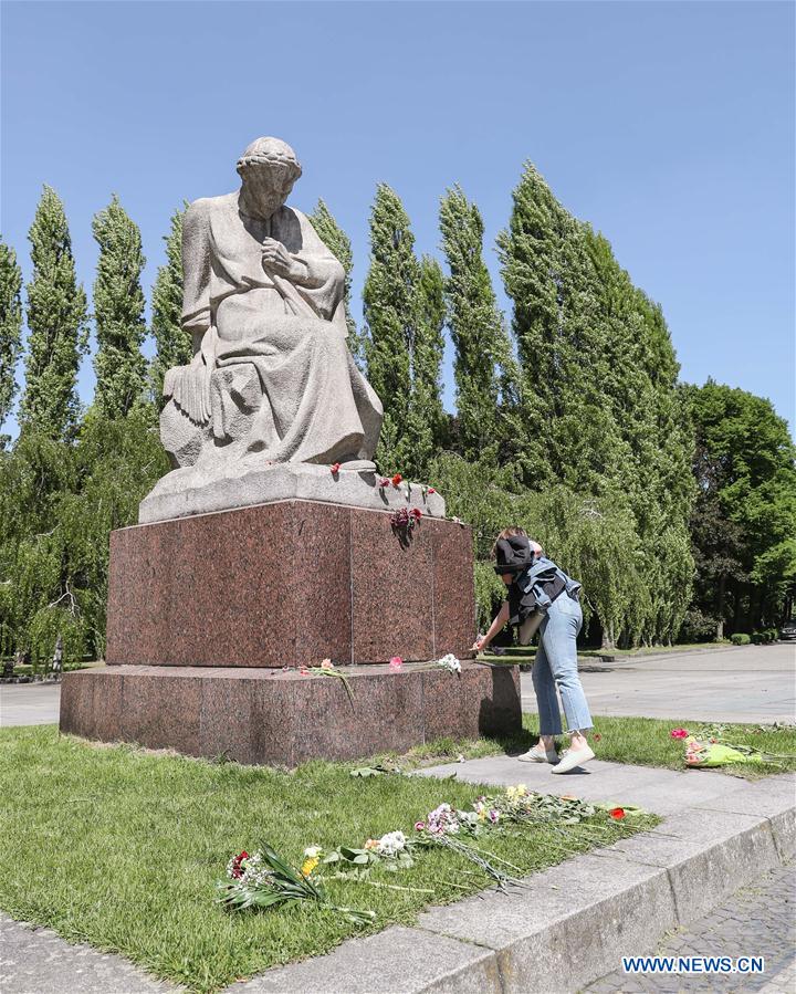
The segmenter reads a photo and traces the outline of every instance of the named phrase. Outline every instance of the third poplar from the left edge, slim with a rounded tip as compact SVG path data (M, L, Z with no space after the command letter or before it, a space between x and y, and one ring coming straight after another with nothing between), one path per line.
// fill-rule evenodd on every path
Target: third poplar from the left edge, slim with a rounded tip
M143 399L146 386L146 359L140 350L146 333L140 275L146 260L140 231L115 193L94 216L92 230L100 245L94 282L94 400L106 418L121 418Z

